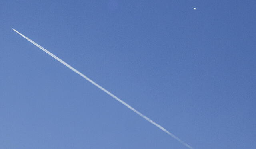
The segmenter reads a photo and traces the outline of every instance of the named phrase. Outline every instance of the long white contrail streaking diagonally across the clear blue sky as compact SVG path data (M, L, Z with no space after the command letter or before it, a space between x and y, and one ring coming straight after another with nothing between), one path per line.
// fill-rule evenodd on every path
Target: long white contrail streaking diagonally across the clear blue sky
M16 31L15 29L13 29L14 31ZM160 126L159 124L157 124L156 122L152 121L150 118L144 116L142 113L138 112L136 109L132 108L129 104L126 104L126 102L124 102L123 100L119 99L118 97L116 97L114 94L112 94L111 92L109 92L108 90L106 90L105 88L103 88L102 86L100 86L99 84L95 83L94 81L92 81L90 78L88 78L87 76L85 76L84 74L80 73L78 70L74 69L72 66L68 65L68 63L62 61L62 59L56 57L56 55L50 53L48 50L44 49L43 47L41 47L40 45L38 45L37 43L35 43L34 41L32 41L31 39L29 39L28 37L22 35L20 32L16 31L16 33L20 34L22 37L24 37L25 39L27 39L28 41L30 41L31 43L33 43L34 45L36 45L37 47L39 47L40 49L42 49L44 52L46 52L47 54L49 54L50 56L52 56L54 59L58 60L60 63L64 64L66 67L70 68L72 71L74 71L75 73L79 74L80 76L82 76L83 78L85 78L86 80L88 80L89 82L91 82L93 85L97 86L98 88L100 88L101 90L103 90L104 92L106 92L108 95L110 95L111 97L115 98L117 101L121 102L124 106L128 107L130 110L132 110L133 112L135 112L136 114L138 114L139 116L141 116L142 118L146 119L148 122L150 122L151 124L155 125L156 127L158 127L159 129L161 129L162 131L166 132L168 135L170 135L171 137L173 137L174 139L178 140L180 143L182 143L183 145L185 145L186 147L193 149L190 145L188 145L187 143L185 143L184 141L182 141L180 138L176 137L174 134L170 133L169 131L167 131L166 129L164 129L164 127Z

